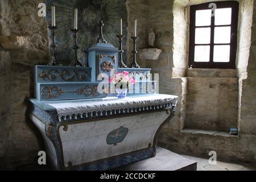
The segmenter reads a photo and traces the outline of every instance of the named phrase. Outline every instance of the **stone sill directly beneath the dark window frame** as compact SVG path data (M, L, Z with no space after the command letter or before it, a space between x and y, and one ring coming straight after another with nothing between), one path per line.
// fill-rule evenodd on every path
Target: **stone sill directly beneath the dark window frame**
M236 69L187 69L186 77L237 77Z

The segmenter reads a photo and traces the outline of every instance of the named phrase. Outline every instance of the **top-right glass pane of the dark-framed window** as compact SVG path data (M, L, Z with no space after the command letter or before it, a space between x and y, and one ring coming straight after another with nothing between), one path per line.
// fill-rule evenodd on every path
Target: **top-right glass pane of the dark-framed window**
M215 25L231 24L232 8L215 10Z

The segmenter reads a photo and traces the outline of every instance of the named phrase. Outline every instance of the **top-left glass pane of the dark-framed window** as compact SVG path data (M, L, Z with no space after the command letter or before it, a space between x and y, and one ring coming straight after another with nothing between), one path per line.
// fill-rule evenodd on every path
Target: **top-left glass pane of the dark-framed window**
M211 16L212 16L211 10L197 10L196 26L210 26Z

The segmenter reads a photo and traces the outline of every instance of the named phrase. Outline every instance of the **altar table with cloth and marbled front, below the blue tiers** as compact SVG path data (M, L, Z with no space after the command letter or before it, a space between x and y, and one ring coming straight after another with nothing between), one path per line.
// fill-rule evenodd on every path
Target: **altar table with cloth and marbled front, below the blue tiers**
M30 100L51 163L59 170L106 170L151 158L176 96L152 94L88 100Z

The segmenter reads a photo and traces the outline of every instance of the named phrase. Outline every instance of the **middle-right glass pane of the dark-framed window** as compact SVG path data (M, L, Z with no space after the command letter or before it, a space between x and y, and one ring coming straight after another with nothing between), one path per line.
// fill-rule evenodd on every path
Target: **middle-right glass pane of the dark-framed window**
M214 43L229 44L230 43L231 27L215 27L214 28Z

